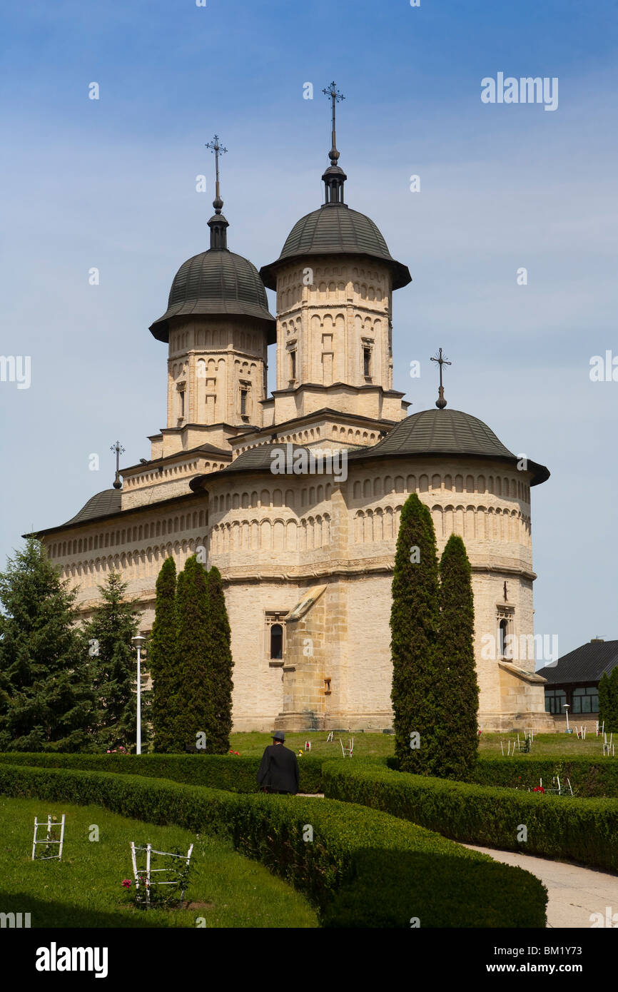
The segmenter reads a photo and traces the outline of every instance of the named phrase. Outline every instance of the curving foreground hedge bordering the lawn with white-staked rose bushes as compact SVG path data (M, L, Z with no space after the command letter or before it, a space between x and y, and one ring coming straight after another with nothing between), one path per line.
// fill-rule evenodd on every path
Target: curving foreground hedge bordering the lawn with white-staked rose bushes
M8 764L0 793L226 834L304 892L324 927L409 929L414 918L425 928L545 926L547 891L533 875L365 806Z

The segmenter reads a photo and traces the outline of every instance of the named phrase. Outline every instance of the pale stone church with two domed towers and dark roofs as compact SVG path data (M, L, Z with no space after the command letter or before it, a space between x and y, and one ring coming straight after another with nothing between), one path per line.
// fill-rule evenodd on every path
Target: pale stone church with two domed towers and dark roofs
M215 136L209 248L181 266L150 327L168 346L166 427L150 436L149 460L117 470L112 488L36 536L78 587L84 617L120 572L143 633L165 558L179 570L194 554L216 565L235 730L378 730L392 725L391 583L401 510L416 492L438 555L455 533L472 565L479 725L553 729L534 657L506 650L534 635L531 491L550 473L447 408L441 349L435 408L408 416L393 389L392 303L412 277L345 202L339 94L325 92L324 201L259 272L227 244Z

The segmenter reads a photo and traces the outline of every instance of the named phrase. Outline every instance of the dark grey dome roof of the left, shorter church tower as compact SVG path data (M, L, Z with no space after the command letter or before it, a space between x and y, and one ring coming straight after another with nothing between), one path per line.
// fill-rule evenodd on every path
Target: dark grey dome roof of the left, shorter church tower
M150 329L158 340L169 341L169 321L188 314L255 317L263 321L268 343L276 340L275 318L269 313L258 270L227 248L209 248L187 259L174 277L168 310Z

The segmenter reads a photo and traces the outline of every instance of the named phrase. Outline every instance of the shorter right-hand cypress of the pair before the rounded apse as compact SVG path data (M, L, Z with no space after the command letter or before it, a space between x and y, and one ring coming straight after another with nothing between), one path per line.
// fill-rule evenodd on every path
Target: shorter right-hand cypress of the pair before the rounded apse
M435 690L439 695L441 778L462 779L478 752L478 684L474 662L472 569L452 534L439 562L439 634Z

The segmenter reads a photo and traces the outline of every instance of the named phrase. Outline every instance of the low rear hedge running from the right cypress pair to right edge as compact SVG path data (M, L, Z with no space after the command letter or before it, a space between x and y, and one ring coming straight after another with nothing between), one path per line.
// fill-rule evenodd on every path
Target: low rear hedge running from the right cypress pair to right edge
M566 786L566 779L570 780L575 796L618 798L618 760L613 758L535 758L534 755L503 758L499 755L480 759L468 781L479 786L527 790L538 786L540 779L544 786L551 786L556 775L560 785Z

